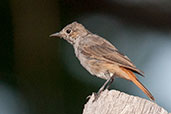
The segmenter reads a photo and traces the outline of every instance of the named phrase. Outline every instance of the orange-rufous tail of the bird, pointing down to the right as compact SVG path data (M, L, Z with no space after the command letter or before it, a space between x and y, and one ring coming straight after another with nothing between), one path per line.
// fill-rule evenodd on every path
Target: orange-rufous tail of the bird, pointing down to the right
M152 94L144 87L144 85L136 78L135 74L130 71L129 69L126 69L124 67L120 67L125 73L128 74L129 78L131 81L138 86L151 100L155 101L154 97Z

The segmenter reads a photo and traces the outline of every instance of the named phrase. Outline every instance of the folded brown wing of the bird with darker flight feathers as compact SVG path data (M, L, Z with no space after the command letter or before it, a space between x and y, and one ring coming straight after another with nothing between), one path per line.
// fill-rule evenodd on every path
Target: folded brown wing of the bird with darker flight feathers
M95 40L89 42L89 45L83 45L81 53L86 54L90 58L104 60L125 67L142 76L144 74L136 68L127 56L121 54L111 43L102 38L95 38Z

